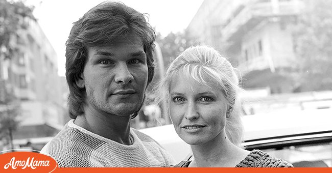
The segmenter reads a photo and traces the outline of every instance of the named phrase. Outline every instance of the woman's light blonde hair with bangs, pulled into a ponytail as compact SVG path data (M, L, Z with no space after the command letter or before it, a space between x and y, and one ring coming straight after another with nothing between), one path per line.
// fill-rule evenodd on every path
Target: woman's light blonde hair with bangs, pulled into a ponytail
M226 120L225 131L230 141L241 147L243 126L242 111L238 93L239 77L234 68L212 47L194 46L184 50L170 65L165 77L157 85L157 98L160 103L167 101L169 110L170 86L176 75L207 85L209 88L219 88L228 101L229 118Z

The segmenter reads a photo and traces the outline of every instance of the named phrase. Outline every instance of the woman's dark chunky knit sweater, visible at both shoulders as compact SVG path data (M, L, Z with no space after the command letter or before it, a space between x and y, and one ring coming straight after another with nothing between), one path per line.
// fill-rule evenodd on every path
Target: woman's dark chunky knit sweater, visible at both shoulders
M181 161L174 167L188 167L191 162ZM260 150L253 150L235 167L293 167L293 165Z

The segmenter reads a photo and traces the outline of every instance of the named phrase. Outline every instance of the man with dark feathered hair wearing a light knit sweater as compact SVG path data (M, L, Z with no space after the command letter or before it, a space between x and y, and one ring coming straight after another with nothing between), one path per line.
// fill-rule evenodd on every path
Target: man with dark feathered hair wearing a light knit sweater
M155 33L143 14L104 2L74 23L66 42L69 116L41 153L60 167L165 167L173 158L130 128L154 75Z

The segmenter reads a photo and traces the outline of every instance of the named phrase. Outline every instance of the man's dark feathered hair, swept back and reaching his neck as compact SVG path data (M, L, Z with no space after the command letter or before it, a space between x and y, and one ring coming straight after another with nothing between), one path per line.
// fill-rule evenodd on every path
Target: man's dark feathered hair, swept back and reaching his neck
M120 2L104 2L93 7L74 22L66 42L66 79L69 86L70 118L75 119L84 113L85 88L79 88L76 80L83 73L88 47L107 46L117 38L125 37L129 32L134 33L143 42L147 55L149 84L154 75L155 32L144 14Z

